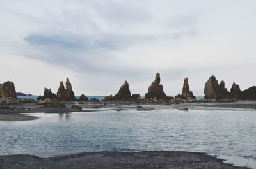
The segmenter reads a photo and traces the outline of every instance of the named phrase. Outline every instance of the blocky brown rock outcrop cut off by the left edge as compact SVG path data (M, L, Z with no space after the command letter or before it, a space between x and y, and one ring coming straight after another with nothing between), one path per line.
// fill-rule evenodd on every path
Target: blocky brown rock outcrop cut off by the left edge
M0 98L17 98L14 83L7 81L0 84Z

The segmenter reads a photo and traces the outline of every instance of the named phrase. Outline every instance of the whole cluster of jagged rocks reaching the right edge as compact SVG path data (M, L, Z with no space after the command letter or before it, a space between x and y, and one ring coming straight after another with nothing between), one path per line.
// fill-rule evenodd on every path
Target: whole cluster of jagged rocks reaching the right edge
M239 85L235 82L232 84L230 92L225 88L225 82L222 80L218 84L218 80L212 75L205 83L204 88L205 99L256 99L256 87L250 87L241 91Z

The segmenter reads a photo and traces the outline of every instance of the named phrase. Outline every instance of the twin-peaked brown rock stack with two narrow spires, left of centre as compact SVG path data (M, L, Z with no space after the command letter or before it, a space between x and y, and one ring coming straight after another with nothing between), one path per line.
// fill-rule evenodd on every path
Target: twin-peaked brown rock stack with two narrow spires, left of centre
M64 87L63 82L60 82L60 87L57 92L57 98L60 100L65 100L65 101L71 101L75 100L75 94L72 90L72 85L69 82L69 79L66 79L66 89Z

